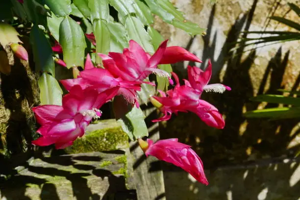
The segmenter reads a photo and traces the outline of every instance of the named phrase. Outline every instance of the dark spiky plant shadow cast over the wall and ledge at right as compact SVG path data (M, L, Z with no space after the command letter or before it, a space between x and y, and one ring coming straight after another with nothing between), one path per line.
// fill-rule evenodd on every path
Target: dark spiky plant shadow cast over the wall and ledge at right
M272 158L281 157L283 159L294 156L295 150L299 146L289 150L287 150L287 146L299 134L298 131L290 136L292 129L299 123L299 119L270 121L268 119L246 120L243 117L243 110L254 110L259 105L259 103L249 100L254 95L250 80L250 67L253 65L256 51L252 50L247 56L243 55L240 53L245 51L243 44L236 50L238 53L229 50L237 42L242 28L244 27L244 31L249 30L257 1L254 0L249 12L232 25L220 56L216 60L212 60L213 66L227 65L223 84L230 86L232 90L224 94L209 93L202 96L204 100L215 105L225 115L225 128L218 130L208 127L193 113L179 113L167 124L160 125L161 138L176 137L179 138L179 141L191 145L200 155L205 169L210 169L211 172L206 173L210 185L205 187L198 183L192 183L187 173L182 172L181 169L164 164L167 199L179 200L180 194L185 194L185 197L189 198L186 200L278 200L278 198L298 200L299 198L299 194L297 194L300 188L299 181L290 184L291 175L299 176L300 174L299 160L294 164L272 164L274 162ZM209 58L214 58L217 32L212 33L212 26L215 12L214 6L209 17L207 35L203 37L202 69ZM211 34L214 34L212 42L209 41ZM243 37L246 36L246 34L243 35ZM193 39L187 49L192 42ZM270 78L270 87L265 94L277 94L276 90L282 89L281 82L288 64L289 51L284 54L283 59L281 56L280 48L268 64L258 94L264 93L267 78ZM194 64L189 63L189 65ZM174 71L176 72L176 68L182 67L183 63L175 66ZM211 82L220 82L220 74L218 74L220 72L213 73L216 74L216 77ZM179 78L186 77L187 75L179 74ZM297 89L299 83L300 76L294 83L294 90ZM277 106L278 104L269 103L266 108ZM246 167L260 159L268 159L265 161L268 163L265 164L267 166L259 163L258 167ZM278 162L282 162L282 159ZM268 166L269 164L270 166ZM224 166L232 166L232 168L224 169ZM234 169L234 166L240 167ZM219 169L217 170L217 168ZM178 179L180 179L180 183L178 183ZM282 195L278 194L277 190L281 191ZM168 191L173 192L171 194ZM259 195L261 195L260 198L258 198Z

